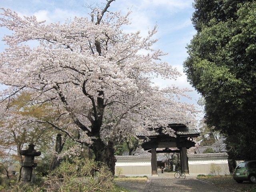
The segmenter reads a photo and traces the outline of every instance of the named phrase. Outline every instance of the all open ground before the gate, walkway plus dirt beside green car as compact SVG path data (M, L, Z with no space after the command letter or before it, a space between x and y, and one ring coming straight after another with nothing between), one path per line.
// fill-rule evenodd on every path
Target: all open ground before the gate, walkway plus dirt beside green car
M254 185L248 182L238 184L231 177L222 176L218 179L221 182L206 181L189 175L185 179L176 179L173 173L164 172L157 177L149 177L146 183L116 183L132 192L241 192Z

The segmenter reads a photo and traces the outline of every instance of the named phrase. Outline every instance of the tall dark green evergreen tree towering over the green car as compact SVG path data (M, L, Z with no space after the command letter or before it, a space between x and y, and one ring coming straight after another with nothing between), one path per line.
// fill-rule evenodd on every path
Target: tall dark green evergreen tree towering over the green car
M184 72L236 159L256 159L256 1L195 0Z

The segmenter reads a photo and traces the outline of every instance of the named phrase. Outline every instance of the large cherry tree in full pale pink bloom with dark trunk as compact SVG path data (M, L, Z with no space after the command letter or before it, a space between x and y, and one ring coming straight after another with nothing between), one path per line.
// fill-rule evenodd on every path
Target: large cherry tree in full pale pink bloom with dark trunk
M157 27L145 38L139 31L124 32L130 12L108 12L113 1L102 10L94 8L89 18L75 17L64 24L44 24L35 16L21 18L2 8L0 26L13 34L3 38L9 47L0 54L0 83L10 87L2 101L29 89L34 99L60 109L67 124L79 129L76 137L54 119L41 122L89 146L95 160L114 173L116 140L148 126L186 123L195 110L176 98L186 96L188 89L159 88L152 82L153 77L180 76L160 60L165 54L152 48Z

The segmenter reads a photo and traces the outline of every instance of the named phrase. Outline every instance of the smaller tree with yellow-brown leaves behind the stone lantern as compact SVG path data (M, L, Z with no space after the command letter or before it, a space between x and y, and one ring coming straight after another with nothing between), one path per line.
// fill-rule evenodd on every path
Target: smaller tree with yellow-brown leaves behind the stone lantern
M33 143L38 150L49 150L53 145L56 130L48 124L39 124L38 119L49 114L47 105L30 100L30 93L22 92L12 97L12 101L2 103L0 110L0 151L1 157L22 162L21 150ZM47 112L46 112L47 111ZM48 118L53 118L51 115ZM56 116L57 118L57 116Z

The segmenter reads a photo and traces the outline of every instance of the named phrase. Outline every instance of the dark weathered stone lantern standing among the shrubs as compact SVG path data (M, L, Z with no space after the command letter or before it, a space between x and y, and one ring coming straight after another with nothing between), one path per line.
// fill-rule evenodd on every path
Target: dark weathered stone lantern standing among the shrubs
M32 178L33 167L36 167L37 164L34 163L35 156L40 156L41 152L34 150L34 144L28 145L28 150L21 150L20 154L25 156L24 162L21 164L22 166L22 181L30 182Z

